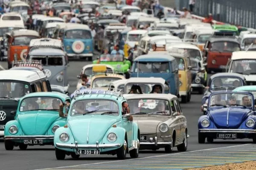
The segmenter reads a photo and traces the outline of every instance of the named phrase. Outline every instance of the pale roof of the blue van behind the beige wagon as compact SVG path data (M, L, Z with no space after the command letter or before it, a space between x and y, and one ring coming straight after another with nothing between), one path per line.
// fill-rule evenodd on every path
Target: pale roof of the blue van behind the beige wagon
M175 60L174 57L168 54L157 54L159 51L154 51L156 54L145 54L138 56L134 59L134 62L160 62L160 61L173 61Z

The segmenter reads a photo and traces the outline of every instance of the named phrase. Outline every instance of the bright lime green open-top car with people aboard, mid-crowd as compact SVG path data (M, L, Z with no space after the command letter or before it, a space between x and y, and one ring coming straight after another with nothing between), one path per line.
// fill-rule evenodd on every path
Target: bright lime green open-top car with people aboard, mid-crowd
M108 57L109 59L103 59ZM116 61L113 61L113 58L116 57ZM93 64L108 64L113 66L114 72L119 73L128 73L129 68L131 67L131 62L128 59L125 59L123 55L111 55L111 54L102 54L99 59L94 60Z

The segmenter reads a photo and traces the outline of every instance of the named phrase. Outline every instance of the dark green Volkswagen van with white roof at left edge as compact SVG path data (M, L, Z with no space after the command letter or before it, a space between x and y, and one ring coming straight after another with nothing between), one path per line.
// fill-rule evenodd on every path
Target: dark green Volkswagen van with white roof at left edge
M0 71L0 105L5 119L0 120L0 136L6 122L13 120L12 111L17 109L18 100L29 93L52 91L42 71L3 70Z

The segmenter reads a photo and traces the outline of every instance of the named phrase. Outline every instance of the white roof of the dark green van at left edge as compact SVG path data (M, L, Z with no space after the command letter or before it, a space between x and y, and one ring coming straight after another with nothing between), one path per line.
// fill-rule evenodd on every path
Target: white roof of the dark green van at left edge
M3 70L0 71L1 80L16 80L23 82L35 82L44 79L43 71L27 71L27 70Z

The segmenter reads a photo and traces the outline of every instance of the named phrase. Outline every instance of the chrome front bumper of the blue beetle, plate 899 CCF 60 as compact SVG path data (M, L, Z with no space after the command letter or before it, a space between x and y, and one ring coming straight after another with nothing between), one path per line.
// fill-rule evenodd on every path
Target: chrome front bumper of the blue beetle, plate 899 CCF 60
M254 129L198 129L200 133L256 133Z

